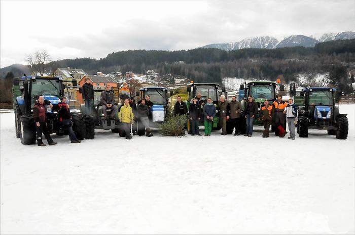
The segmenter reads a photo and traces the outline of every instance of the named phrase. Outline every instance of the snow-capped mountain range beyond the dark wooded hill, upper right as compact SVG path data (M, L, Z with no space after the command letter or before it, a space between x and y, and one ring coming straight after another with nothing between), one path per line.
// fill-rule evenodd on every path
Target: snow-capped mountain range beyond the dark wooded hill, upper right
M291 35L279 42L275 37L257 36L247 37L235 43L218 43L209 44L200 48L217 48L226 51L239 50L243 48L282 48L282 47L314 47L317 43L328 42L333 40L347 40L355 38L355 32L346 31L340 33L324 33L319 38L312 38L305 35Z

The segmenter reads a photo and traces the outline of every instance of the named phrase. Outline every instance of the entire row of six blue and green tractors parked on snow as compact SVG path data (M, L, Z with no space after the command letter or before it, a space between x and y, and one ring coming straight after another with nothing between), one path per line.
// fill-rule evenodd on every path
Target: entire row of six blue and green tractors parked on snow
M14 112L15 112L15 130L16 137L21 139L22 144L35 143L35 123L32 117L32 109L35 100L39 96L44 96L45 100L49 100L53 105L47 106L47 127L50 133L57 135L66 135L67 131L61 125L58 119L58 103L60 97L64 96L64 90L67 89L66 83L71 83L73 87L77 87L77 81L63 81L61 77L46 76L22 76L14 79L13 95L14 95ZM81 105L80 111L72 111L73 130L78 139L93 139L95 129L111 130L114 133L124 135L121 131L121 124L116 113L115 119L104 119L102 113L102 104L100 101L100 93L104 88L95 90L94 100L90 114L84 114L84 105ZM271 81L254 81L240 85L239 100L243 109L245 109L247 101L246 97L251 95L258 104L260 110L265 100L270 103L276 100L278 94L282 93L284 86ZM190 100L201 94L201 105L206 103L207 98L211 98L214 105L218 106L218 100L222 94L226 94L225 88L215 83L194 83L187 85L188 99L185 101L187 106ZM335 135L337 139L346 139L348 133L348 121L346 114L339 112L339 107L335 104L334 93L335 88L304 88L299 94L296 93L295 84L290 86L290 95L294 97L296 104L299 106L299 118L296 124L297 133L300 137L308 137L308 129L327 130L329 135ZM158 127L159 123L165 121L170 111L168 96L172 96L172 91L164 87L145 87L136 93L136 100L141 100L149 95L153 106L149 116L150 127ZM121 106L117 101L117 106ZM170 104L171 105L171 104ZM113 110L107 109L108 115ZM286 116L285 116L286 119ZM241 119L245 122L244 119ZM286 125L286 122L284 122ZM262 125L262 117L258 113L255 118L256 125ZM134 123L138 135L144 135L144 127L139 120ZM203 125L200 120L200 125ZM245 133L245 123L240 125L241 132ZM284 127L286 128L286 127ZM187 131L190 132L191 127L187 125ZM221 129L219 125L219 115L216 113L212 122L212 129ZM272 125L272 131L277 131L275 125Z

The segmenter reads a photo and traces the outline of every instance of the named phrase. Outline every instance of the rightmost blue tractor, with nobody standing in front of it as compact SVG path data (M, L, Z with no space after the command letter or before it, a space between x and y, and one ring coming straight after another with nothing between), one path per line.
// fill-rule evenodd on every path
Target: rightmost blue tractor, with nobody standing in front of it
M308 137L308 129L317 129L327 130L329 135L335 135L337 139L347 138L347 114L340 114L339 107L335 106L335 92L336 89L330 87L304 88L301 91L303 103L299 104L296 125L300 137Z

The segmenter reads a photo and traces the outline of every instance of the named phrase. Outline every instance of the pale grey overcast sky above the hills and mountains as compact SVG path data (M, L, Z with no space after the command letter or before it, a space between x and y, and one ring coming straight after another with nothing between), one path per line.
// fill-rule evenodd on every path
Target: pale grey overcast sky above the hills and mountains
M180 50L250 36L355 31L355 1L1 1L1 63Z

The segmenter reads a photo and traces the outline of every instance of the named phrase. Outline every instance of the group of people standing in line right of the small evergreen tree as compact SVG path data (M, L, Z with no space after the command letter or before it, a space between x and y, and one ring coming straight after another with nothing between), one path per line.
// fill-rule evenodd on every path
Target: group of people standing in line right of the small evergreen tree
M239 101L235 96L232 96L232 100L228 102L224 95L221 95L218 105L213 104L210 98L207 98L206 104L201 99L201 94L197 93L196 97L191 99L190 106L187 108L185 102L181 100L181 97L177 97L177 101L174 105L175 115L188 114L191 135L200 135L199 133L199 121L203 119L205 136L210 136L212 129L212 122L219 113L219 125L222 129L221 135L227 135L227 126L234 131L234 135L238 136L242 133L242 129L245 128L244 136L252 137L253 124L255 118L259 112L258 104L253 100L252 96L247 97L246 107L243 110ZM295 139L295 125L297 123L297 106L293 103L292 99L289 102L282 100L282 96L277 96L277 99L269 104L268 100L265 100L264 105L261 107L260 115L262 117L264 132L263 138L270 137L270 126L274 122L276 130L275 134L279 137L285 137L288 133L285 128L285 114L287 124L290 131L289 139ZM243 120L245 119L245 127L243 127Z

